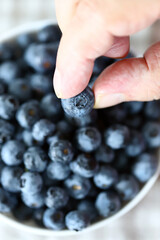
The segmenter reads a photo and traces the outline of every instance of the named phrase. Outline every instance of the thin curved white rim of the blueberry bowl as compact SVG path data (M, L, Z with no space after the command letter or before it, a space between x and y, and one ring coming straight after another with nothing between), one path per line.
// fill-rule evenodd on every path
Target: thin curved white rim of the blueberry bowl
M9 41L12 38L16 37L19 34L22 33L27 33L27 32L34 32L42 27L48 25L48 24L55 24L56 22L53 19L47 19L47 20L41 20L41 21L35 21L31 22L28 24L23 24L21 26L18 26L12 30L9 30L8 32L3 33L3 36L0 35L0 43ZM70 231L70 230L61 230L61 231L54 231L50 229L43 229L35 226L29 226L25 225L24 223L20 223L14 219L11 219L8 215L4 215L0 213L0 221L2 221L5 224L8 224L10 227L19 230L19 231L24 231L28 232L33 235L38 235L38 236L47 236L47 237L58 237L58 236L77 236L80 234L88 233L93 230L96 230L98 228L102 228L106 226L107 224L113 222L116 219L119 219L120 217L124 216L126 213L128 213L130 210L132 210L151 190L152 186L155 184L156 180L158 179L158 176L160 174L160 150L158 150L158 165L157 165L157 170L155 174L150 178L150 180L144 184L143 188L140 190L140 192L137 194L137 196L131 200L129 203L127 203L119 212L117 212L115 215L100 220L99 222L93 223L90 226L88 226L86 229L82 230L81 232L77 233L75 231Z

